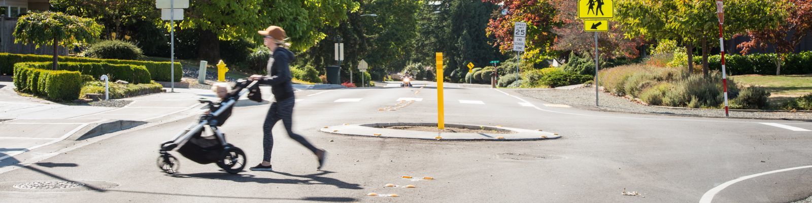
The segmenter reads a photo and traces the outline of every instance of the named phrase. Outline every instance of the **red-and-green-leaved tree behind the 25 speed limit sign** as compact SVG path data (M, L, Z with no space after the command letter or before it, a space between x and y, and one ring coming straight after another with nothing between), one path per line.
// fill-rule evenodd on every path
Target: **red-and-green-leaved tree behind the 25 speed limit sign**
M499 11L507 11L504 15L495 12L495 18L490 19L487 33L496 37L495 46L499 50L508 52L513 50L513 27L515 22L527 23L527 38L525 39L525 53L523 58L533 63L541 63L543 59L554 57L555 52L551 46L555 42L553 28L562 25L555 16L559 11L555 5L568 0L482 0L500 4Z

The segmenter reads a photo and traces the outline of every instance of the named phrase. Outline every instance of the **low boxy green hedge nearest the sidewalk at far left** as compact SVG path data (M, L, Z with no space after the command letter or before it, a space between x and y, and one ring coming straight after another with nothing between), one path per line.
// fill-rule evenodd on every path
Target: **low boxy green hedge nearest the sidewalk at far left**
M18 63L14 67L17 91L47 97L50 100L71 101L79 97L82 78L79 71L50 71Z

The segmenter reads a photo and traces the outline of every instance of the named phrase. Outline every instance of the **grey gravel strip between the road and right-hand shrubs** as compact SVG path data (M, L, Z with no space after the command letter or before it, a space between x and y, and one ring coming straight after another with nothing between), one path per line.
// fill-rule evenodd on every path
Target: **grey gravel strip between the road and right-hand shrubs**
M600 106L595 106L595 89L580 88L571 90L562 89L525 89L517 90L525 97L533 97L554 104L565 104L582 109L611 110L643 114L667 114L701 117L724 117L724 110L710 109L670 109L658 106L647 106L632 102L625 97L615 97L610 93L600 93ZM741 112L730 111L731 118L741 119L793 119L812 120L812 113L806 112Z

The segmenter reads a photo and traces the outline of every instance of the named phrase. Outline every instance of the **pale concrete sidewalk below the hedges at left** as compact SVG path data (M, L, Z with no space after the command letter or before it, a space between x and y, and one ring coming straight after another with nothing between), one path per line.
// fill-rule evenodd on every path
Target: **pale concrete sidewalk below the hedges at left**
M168 91L168 89L167 89ZM123 107L71 106L14 92L14 84L0 81L0 162L63 140L84 140L145 123L162 123L200 114L199 98L214 99L210 90L175 89L130 97Z

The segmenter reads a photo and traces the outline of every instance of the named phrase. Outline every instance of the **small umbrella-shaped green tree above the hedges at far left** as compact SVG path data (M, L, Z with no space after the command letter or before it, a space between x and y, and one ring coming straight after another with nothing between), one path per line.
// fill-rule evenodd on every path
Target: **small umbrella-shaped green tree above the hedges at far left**
M58 46L72 47L96 41L102 26L93 19L84 19L60 12L33 12L17 21L14 29L16 43L54 46L54 70L58 67Z

